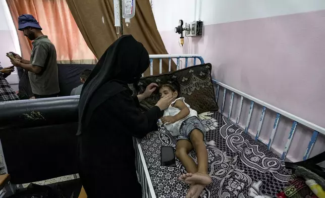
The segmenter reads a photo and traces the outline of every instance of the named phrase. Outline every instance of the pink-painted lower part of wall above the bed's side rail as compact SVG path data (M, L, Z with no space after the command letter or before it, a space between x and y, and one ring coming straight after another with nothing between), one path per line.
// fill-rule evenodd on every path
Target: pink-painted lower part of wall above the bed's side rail
M321 10L207 25L202 38L185 39L183 48L173 30L160 35L170 54L199 54L211 63L214 79L325 127L324 21ZM258 108L253 114L259 117ZM252 124L253 131L257 124ZM280 149L286 143L281 130L275 142ZM303 130L308 129L298 130L294 138L308 143L310 132ZM320 152L319 146L313 153Z

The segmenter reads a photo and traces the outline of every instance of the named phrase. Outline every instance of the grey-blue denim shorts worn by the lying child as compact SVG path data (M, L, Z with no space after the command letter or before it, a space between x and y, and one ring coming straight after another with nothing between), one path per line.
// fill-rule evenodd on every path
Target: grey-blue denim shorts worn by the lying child
M205 139L205 127L203 126L202 122L199 120L198 117L192 116L182 122L180 128L180 135L177 137L177 140L186 139L191 141L190 135L194 129L201 131L203 134L203 139Z

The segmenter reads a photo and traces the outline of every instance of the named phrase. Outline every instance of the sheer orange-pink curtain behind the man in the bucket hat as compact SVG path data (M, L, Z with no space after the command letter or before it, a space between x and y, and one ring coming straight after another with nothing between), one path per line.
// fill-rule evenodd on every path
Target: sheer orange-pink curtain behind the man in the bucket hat
M18 17L31 14L56 46L58 63L95 64L96 57L89 49L71 15L66 0L7 0L17 28L22 57L30 59L31 41L18 30Z

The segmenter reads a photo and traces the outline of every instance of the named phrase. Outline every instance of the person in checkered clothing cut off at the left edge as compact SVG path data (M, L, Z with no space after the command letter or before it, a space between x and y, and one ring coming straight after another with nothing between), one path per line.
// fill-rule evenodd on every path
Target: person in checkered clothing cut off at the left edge
M11 88L10 84L6 80L7 76L9 76L14 70L14 66L3 68L0 65L0 102L19 100L17 93Z

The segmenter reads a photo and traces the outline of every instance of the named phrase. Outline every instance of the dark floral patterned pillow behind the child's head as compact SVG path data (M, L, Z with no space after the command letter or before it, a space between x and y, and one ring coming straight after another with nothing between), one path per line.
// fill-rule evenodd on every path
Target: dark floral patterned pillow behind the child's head
M140 79L137 87L131 87L134 93L143 93L146 86L154 82L158 85L171 83L176 79L180 84L180 96L185 97L185 102L196 110L198 114L218 110L215 102L214 88L211 79L211 64L202 64L174 72L148 76ZM140 105L143 111L152 108L159 100L158 91L143 100Z

